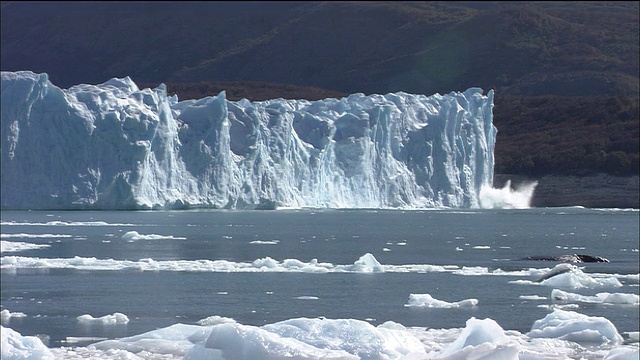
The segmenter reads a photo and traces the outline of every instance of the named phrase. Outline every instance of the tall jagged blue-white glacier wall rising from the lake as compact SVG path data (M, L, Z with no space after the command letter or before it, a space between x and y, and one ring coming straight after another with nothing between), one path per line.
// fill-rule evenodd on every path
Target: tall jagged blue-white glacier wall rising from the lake
M2 72L2 209L477 208L493 91L234 102Z

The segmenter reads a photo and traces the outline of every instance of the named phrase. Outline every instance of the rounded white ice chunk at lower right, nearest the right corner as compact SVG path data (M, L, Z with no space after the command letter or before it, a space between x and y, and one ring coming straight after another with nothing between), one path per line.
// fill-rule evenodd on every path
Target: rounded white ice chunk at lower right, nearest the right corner
M527 333L529 337L559 338L577 343L622 343L622 336L606 318L591 317L573 311L554 310L536 320Z

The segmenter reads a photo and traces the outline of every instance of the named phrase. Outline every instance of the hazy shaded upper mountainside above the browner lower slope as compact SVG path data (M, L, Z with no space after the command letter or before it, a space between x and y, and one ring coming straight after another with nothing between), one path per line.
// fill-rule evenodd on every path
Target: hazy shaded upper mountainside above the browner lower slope
M638 95L638 2L2 2L2 70L68 87Z

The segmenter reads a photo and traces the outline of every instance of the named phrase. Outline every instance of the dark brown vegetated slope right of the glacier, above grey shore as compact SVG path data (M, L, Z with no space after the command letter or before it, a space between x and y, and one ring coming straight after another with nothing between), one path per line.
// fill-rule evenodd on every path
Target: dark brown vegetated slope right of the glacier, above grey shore
M638 175L638 98L496 96L497 173Z

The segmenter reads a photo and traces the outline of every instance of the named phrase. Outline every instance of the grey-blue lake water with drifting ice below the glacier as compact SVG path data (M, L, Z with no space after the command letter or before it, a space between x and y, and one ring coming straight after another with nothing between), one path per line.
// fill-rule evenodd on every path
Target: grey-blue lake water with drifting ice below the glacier
M2 325L51 348L214 315L254 326L325 317L424 329L475 317L526 333L567 305L535 282L558 262L529 256L605 257L576 265L622 286L563 290L639 294L637 210L3 211L1 221L1 305L22 315ZM411 294L477 305L407 306ZM638 332L637 304L569 305L608 319L625 341ZM115 313L129 322L78 320Z

